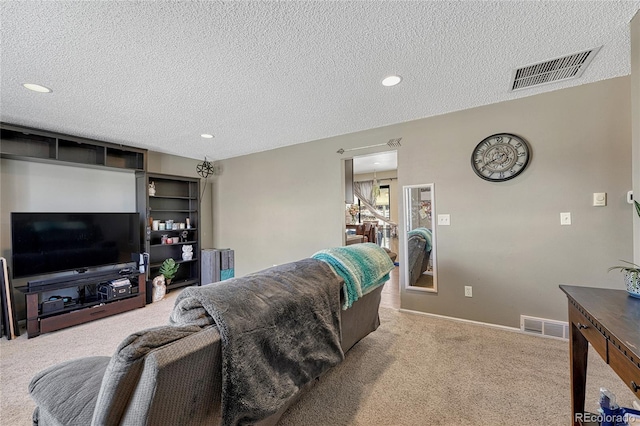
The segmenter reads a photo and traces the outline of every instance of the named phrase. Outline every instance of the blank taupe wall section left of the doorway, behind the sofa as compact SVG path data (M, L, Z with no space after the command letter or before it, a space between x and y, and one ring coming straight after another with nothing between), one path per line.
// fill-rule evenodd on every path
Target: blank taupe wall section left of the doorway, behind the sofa
M236 276L342 244L344 172L334 146L294 145L219 163L214 245L235 250Z

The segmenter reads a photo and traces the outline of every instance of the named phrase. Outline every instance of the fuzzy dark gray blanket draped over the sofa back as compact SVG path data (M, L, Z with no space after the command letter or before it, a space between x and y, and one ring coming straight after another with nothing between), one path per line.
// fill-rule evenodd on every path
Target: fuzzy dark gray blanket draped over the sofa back
M217 324L222 341L222 420L252 424L344 359L342 280L304 259L183 290L174 324Z

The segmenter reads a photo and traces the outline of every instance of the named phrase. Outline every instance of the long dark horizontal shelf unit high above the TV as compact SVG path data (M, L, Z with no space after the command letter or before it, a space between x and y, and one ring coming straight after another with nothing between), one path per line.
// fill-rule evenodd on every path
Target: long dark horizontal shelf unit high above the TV
M15 160L144 171L145 149L0 123L0 155Z

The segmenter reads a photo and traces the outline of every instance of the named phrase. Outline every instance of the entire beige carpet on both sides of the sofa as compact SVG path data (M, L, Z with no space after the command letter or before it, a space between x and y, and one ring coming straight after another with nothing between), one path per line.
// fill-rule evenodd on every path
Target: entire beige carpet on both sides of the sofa
M0 341L0 424L28 425L27 386L65 359L111 355L130 332L165 324L178 292L143 309L37 338ZM381 327L285 413L280 425L567 425L566 341L381 308ZM587 408L598 388L633 394L591 351Z

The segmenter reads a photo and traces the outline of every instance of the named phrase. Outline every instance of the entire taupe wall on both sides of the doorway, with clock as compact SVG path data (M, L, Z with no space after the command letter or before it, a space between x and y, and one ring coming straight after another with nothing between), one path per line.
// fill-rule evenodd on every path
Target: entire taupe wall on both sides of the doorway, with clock
M559 284L624 288L607 268L633 256L630 114L621 77L225 160L214 244L236 250L236 275L342 244L347 155L336 151L402 137L399 186L434 183L436 213L451 215L438 228L439 292L403 291L402 307L514 327L521 314L566 320ZM533 150L527 170L500 184L470 167L475 145L498 132ZM591 206L593 192L608 193L607 207ZM566 211L573 225L560 226Z

